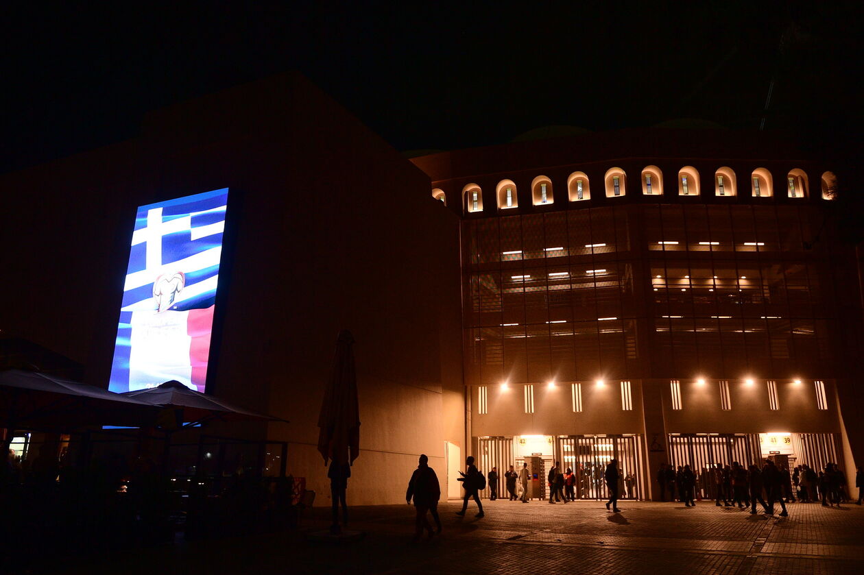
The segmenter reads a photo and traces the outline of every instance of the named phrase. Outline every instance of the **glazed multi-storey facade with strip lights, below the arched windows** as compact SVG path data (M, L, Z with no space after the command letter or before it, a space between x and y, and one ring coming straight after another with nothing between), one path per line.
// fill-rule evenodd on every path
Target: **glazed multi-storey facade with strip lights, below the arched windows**
M463 221L467 382L823 373L820 221L674 204Z

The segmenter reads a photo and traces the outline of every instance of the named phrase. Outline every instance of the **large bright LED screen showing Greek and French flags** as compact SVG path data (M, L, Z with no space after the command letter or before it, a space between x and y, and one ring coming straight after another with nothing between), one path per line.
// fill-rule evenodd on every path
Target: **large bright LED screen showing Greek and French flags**
M138 208L111 391L204 391L227 201L223 188Z

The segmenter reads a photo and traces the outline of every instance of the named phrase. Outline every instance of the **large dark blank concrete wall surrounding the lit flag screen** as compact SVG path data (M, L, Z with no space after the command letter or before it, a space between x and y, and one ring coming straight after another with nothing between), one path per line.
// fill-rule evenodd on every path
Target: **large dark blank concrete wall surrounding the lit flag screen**
M16 248L4 269L32 284L3 282L18 305L0 329L86 363L105 387L137 206L226 186L208 391L290 424L214 431L289 441L288 471L327 502L316 424L349 329L362 422L350 502L403 501L422 452L444 477L445 441L464 444L458 218L299 76L178 104L134 141L0 178Z

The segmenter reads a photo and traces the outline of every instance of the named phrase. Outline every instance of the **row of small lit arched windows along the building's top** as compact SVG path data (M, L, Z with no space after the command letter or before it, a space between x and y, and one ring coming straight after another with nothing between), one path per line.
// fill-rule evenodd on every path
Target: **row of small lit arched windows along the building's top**
M831 172L822 175L823 199L835 199L837 179ZM664 194L663 172L657 166L645 166L640 178L642 194L660 196ZM746 186L750 188L753 197L772 197L774 182L771 172L764 167L757 167L750 174ZM806 198L810 195L810 183L804 170L795 168L786 176L786 193L790 198ZM627 174L620 167L607 170L603 181L603 190L607 198L625 196L627 193ZM702 195L702 182L695 167L684 166L678 170L677 192L681 196ZM720 167L714 174L714 193L716 196L736 196L739 193L739 182L731 167ZM435 188L432 197L440 199L445 204L447 198L444 192ZM483 194L477 184L468 184L462 188L464 207L467 212L483 211ZM495 198L499 210L509 210L518 207L516 184L513 180L501 180L495 186ZM591 186L588 175L584 172L574 172L567 178L567 199L578 202L591 199ZM531 201L533 205L547 205L555 202L552 180L544 175L531 181Z

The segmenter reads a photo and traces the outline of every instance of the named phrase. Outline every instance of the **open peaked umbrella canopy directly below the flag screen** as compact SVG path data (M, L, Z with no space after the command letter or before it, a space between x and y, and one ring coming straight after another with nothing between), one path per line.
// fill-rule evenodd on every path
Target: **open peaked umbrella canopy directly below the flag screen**
M272 415L259 414L245 408L240 408L228 401L213 397L213 395L205 395L200 393L200 391L189 389L181 382L175 381L164 382L156 388L127 391L120 395L137 401L143 401L152 406L182 409L183 419L187 421L216 418L232 421L287 422L287 420L273 417Z

